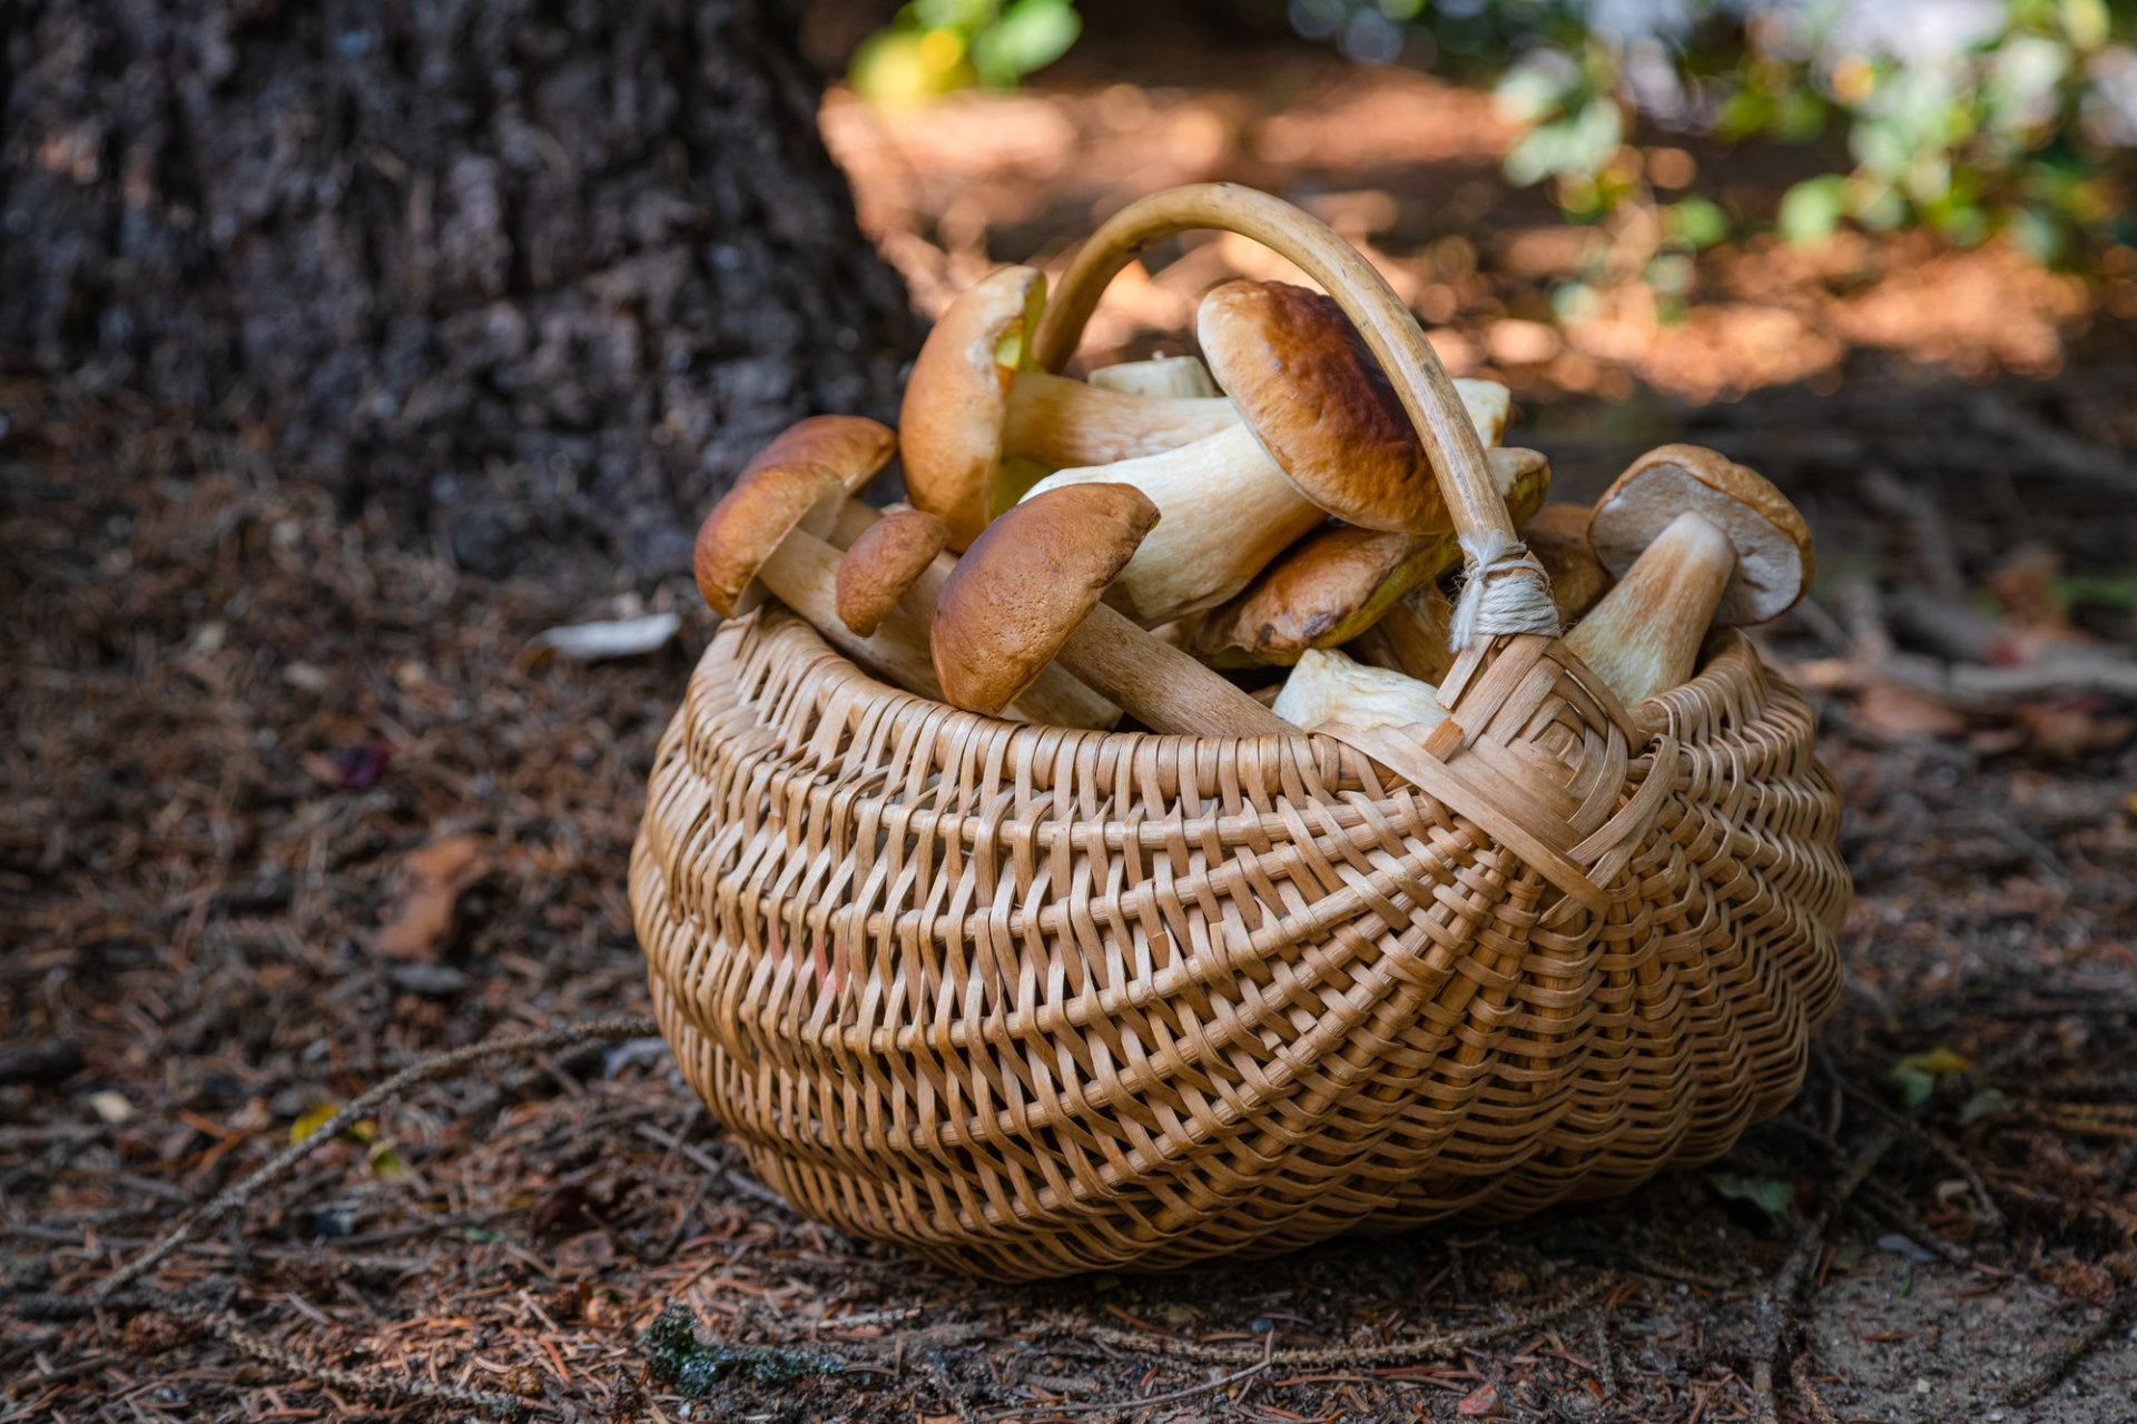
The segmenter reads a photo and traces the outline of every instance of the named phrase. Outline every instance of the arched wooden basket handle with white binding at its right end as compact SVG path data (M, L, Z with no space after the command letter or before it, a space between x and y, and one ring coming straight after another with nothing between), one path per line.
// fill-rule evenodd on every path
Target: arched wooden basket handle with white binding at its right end
M1492 634L1558 636L1551 583L1513 529L1492 485L1483 442L1432 342L1393 288L1331 226L1278 196L1237 184L1188 184L1126 205L1068 263L1039 320L1034 361L1060 371L1083 337L1107 284L1154 241L1192 228L1252 237L1319 282L1366 337L1366 348L1410 414L1462 540L1468 579L1455 615L1455 647Z

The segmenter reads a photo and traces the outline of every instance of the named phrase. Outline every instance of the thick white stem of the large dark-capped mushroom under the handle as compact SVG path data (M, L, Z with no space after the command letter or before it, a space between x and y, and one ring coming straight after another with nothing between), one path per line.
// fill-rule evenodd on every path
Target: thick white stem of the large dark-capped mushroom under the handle
M1092 480L1135 485L1158 506L1158 527L1107 594L1145 628L1225 602L1327 519L1239 423L1163 455L1056 470L1026 500Z

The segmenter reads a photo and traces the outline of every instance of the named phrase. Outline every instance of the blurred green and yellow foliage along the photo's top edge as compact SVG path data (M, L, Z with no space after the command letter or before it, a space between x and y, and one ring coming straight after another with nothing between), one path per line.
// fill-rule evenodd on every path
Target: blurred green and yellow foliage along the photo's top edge
M1748 216L1682 192L1690 164L1656 164L1635 126L1808 145L1823 171L1776 218L1801 246L1842 222L2005 233L2043 260L2137 243L2101 175L2137 147L2137 0L1289 0L1289 21L1363 64L1489 88L1519 130L1509 181L1547 184L1573 222L1652 209L1665 290L1673 254ZM1079 28L1073 0L912 0L851 81L876 102L1015 85Z

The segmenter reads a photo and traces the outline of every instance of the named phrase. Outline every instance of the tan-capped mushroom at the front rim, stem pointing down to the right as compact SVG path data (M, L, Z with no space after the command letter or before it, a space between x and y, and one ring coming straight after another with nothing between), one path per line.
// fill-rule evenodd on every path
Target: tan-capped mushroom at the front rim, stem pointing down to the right
M1158 521L1128 485L1073 485L1026 500L972 540L934 611L945 696L996 713L1060 658L1158 732L1276 737L1261 702L1098 602Z

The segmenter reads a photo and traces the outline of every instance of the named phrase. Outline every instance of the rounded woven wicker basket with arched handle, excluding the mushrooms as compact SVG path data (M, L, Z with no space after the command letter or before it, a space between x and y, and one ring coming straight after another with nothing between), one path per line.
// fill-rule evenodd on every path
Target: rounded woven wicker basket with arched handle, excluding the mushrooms
M1192 222L1319 278L1413 414L1449 399L1348 248L1197 192L1092 239L1041 361ZM1449 502L1470 529L1496 495ZM1801 694L1729 632L1624 709L1526 634L1472 643L1442 700L1425 739L1021 726L767 604L654 764L630 899L660 1023L797 1211L1000 1279L1507 1219L1727 1151L1838 993Z

